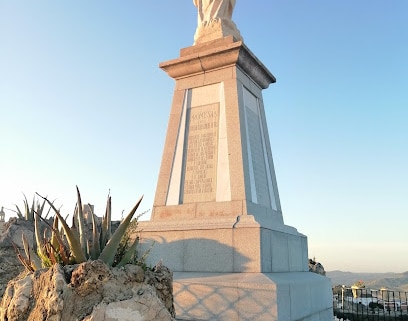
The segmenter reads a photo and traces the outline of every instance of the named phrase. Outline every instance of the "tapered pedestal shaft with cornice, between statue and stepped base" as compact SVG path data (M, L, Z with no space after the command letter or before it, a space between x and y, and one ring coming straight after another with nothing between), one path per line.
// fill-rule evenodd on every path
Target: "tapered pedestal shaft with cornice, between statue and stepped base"
M160 66L176 89L152 221L253 215L282 225L261 92L273 75L232 37Z

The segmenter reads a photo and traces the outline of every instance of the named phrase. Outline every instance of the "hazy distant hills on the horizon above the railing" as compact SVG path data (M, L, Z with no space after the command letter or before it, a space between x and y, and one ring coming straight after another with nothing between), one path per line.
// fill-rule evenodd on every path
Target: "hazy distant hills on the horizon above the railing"
M364 281L366 288L407 291L408 272L404 273L353 273L343 271L327 271L326 276L331 279L332 285L351 286L355 282Z

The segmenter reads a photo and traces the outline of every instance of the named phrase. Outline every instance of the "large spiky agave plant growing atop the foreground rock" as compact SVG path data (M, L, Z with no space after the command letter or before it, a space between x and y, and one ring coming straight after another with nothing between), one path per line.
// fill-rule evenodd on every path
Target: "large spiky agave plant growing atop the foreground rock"
M131 261L132 257L136 256L136 246L138 238L129 243L128 229L131 225L132 218L138 209L143 196L136 202L133 209L121 221L119 227L112 233L111 231L111 196L108 195L105 215L102 220L102 225L99 228L95 220L95 215L91 212L92 218L92 235L87 235L84 213L82 209L81 194L78 186L77 204L75 207L72 226L69 227L66 219L64 219L60 211L54 206L53 202L47 197L41 197L44 202L55 212L54 222L51 225L45 221L41 215L35 213L34 216L34 231L35 240L37 243L37 254L41 259L43 267L52 266L55 263L62 265L82 263L87 260L100 259L109 266L122 266ZM91 207L90 207L91 208ZM41 235L39 222L43 220L49 225L50 233L44 231ZM136 220L135 220L136 221ZM62 226L59 230L58 227ZM123 241L125 239L125 242ZM24 241L23 241L24 242ZM38 263L33 262L32 251L25 247L26 258L21 253L17 255L23 265L29 270L38 268ZM134 260L133 260L134 262Z

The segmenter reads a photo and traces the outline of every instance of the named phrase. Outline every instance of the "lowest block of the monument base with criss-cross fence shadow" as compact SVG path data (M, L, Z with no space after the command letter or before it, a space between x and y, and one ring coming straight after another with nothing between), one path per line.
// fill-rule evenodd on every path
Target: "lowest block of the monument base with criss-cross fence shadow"
M177 320L333 319L330 280L311 272L175 272L173 291Z

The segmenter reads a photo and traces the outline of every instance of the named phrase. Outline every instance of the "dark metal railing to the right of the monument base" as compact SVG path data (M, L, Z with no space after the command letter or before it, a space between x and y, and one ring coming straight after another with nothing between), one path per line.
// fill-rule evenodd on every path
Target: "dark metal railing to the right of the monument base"
M333 291L333 312L339 320L408 321L408 292L343 287Z

